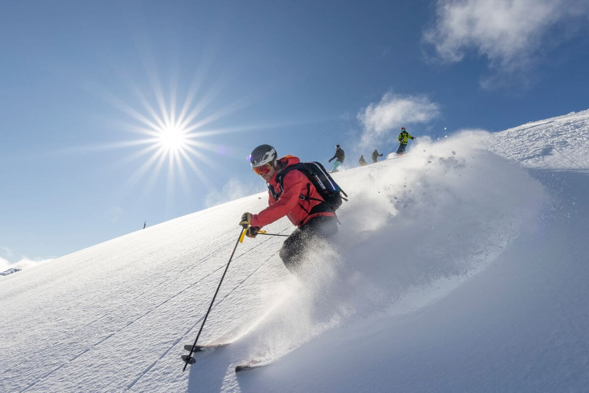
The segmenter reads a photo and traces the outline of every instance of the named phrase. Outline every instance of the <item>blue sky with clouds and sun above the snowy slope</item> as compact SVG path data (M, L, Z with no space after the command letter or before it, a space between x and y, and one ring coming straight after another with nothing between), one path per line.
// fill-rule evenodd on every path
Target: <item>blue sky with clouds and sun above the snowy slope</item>
M258 144L326 164L339 143L350 167L401 126L589 108L587 2L489 3L4 4L0 267L261 190ZM191 143L170 164L161 132L180 126Z

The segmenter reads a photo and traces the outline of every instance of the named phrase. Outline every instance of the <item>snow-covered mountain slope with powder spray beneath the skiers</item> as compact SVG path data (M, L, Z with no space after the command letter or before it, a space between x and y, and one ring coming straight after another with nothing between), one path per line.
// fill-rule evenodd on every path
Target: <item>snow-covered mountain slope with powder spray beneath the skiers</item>
M584 111L335 174L333 245L299 280L246 238L186 372L264 193L2 277L0 391L587 391L587 151Z

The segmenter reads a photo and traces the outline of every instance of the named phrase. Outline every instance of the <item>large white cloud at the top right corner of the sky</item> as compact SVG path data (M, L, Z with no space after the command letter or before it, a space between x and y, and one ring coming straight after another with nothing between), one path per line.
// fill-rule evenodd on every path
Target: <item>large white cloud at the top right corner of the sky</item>
M458 62L468 49L475 49L492 66L514 71L530 64L547 42L554 45L566 39L574 18L589 15L589 2L440 0L436 13L436 25L424 32L423 39L434 45L442 60ZM557 25L562 29L551 29Z

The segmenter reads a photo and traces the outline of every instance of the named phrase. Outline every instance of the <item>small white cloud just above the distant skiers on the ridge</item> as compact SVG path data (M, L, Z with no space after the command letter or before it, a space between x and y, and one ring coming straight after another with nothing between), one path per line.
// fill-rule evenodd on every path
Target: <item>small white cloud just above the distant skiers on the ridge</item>
M397 136L392 129L412 124L425 124L440 115L440 105L426 95L398 95L387 93L379 103L370 103L358 113L364 131L360 145L375 144L386 137ZM411 130L409 130L411 133Z

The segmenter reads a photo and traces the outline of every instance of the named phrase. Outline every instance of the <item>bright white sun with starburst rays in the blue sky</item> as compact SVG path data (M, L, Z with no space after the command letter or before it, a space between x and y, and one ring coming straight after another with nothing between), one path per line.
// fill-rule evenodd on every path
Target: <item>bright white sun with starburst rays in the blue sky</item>
M221 167L215 160L223 162L224 156L228 156L233 148L230 143L234 141L233 138L220 136L274 127L264 124L223 124L226 122L225 117L247 107L249 100L239 98L213 107L214 98L220 94L219 87L201 89L201 82L206 79L204 75L197 73L181 94L178 92L177 75L171 75L166 92L155 72L149 71L148 77L153 88L148 93L142 91L135 82L125 81L137 101L119 98L100 86L92 90L128 116L124 120L114 120L117 128L139 135L130 140L97 147L134 148L118 163L130 169L124 184L125 193L131 193L138 185L150 191L155 184L160 186L157 183L160 180L167 183L168 202L173 200L177 185L181 186L185 196L193 192L193 186L214 191L216 184L210 176L215 176ZM144 160L143 163L141 160ZM197 181L194 180L195 176Z

